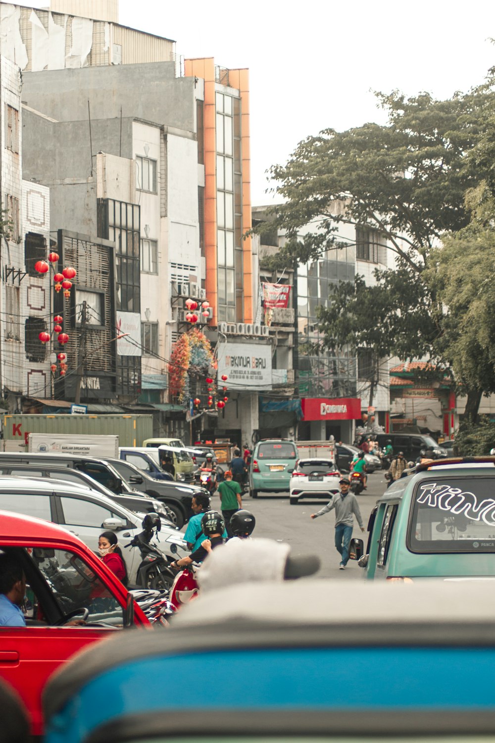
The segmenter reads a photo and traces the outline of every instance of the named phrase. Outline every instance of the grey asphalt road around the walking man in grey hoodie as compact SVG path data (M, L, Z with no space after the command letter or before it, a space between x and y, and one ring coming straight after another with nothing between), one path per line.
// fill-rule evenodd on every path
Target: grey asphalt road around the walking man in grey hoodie
M365 529L371 510L378 497L384 493L386 484L384 470L376 470L376 473L368 476L367 490L357 496ZM340 555L334 545L335 512L330 511L315 520L310 518L311 513L315 513L326 502L324 499L305 499L291 506L288 493L274 495L260 493L257 499L244 497L243 506L256 516L253 536L266 536L280 542L289 542L295 554L318 554L321 558L319 577L358 580L362 577L362 571L357 562L350 560L344 571L338 569ZM218 494L212 499L212 507L220 508ZM357 522L353 536L361 536L366 548L367 531L361 533Z

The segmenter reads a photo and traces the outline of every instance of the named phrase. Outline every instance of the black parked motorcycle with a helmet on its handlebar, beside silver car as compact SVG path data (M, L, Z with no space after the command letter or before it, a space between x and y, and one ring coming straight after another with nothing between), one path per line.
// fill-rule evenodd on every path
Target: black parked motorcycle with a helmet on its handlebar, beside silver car
M160 516L157 513L147 513L142 520L142 528L143 531L125 545L125 549L137 547L141 554L141 563L137 568L137 587L168 590L174 583L174 573L160 549L150 544L153 535L160 531Z

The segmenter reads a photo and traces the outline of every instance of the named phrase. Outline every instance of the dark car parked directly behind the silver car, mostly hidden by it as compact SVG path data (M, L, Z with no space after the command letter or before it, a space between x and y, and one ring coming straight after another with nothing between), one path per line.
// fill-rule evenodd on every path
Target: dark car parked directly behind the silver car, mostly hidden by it
M128 510L134 511L134 513L150 513L151 511L158 513L163 524L174 528L174 514L161 501L147 496L146 493L140 493L139 495L133 493L130 488L128 493L112 493L111 490L108 490L108 487L105 487L105 485L102 485L80 470L69 470L68 467L53 467L52 464L48 466L46 463L39 464L38 466L33 464L0 464L0 476L3 475L56 478L57 480L64 480L68 483L88 487L90 490L94 490L95 493L101 493L102 496L110 498L116 503L128 508Z

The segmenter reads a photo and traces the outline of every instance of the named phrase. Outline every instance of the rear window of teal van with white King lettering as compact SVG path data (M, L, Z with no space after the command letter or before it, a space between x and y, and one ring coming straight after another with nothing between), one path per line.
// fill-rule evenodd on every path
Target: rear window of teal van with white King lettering
M415 552L494 552L494 478L444 472L416 486L410 547Z

